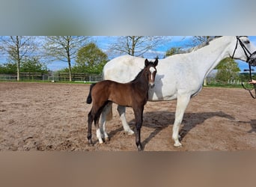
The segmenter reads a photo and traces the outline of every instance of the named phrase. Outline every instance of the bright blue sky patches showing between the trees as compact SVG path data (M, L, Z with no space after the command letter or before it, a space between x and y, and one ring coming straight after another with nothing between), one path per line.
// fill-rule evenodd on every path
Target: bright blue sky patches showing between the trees
M165 55L165 52L170 49L171 47L177 47L177 46L181 46L181 47L186 47L186 45L188 44L189 40L191 37L183 37L183 36L174 36L171 38L171 40L168 43L165 43L162 46L159 46L156 49L152 49L149 52L144 54L144 58L155 58L156 55L159 56L159 58L163 58L163 56ZM256 46L256 36L252 36L249 37L250 40L252 41L252 43ZM98 36L98 37L93 37L92 40L97 43L97 46L103 50L103 52L108 53L108 49L109 46L112 43L115 43L117 37L108 37L108 36ZM109 55L109 54L108 54ZM109 55L109 59L115 58L118 55ZM74 63L74 61L73 61ZM237 61L238 66L240 67L240 70L244 70L244 69L248 69L248 64L246 62L243 61ZM67 63L65 62L52 62L50 64L48 64L48 68L50 70L60 70L64 67L67 67Z

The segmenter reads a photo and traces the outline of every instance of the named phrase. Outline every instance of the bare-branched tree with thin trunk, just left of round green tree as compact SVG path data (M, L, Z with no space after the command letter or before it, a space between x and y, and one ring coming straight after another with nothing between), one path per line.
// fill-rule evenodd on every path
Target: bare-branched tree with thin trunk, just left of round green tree
M44 49L52 61L64 61L68 64L70 81L72 81L71 60L76 58L78 49L85 45L88 37L84 36L49 36L46 37Z

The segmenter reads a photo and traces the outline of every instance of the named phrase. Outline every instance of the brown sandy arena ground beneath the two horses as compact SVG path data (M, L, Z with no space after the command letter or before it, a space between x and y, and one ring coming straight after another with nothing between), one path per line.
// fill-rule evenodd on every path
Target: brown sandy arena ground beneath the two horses
M116 106L107 123L110 141L87 141L89 85L0 82L0 150L137 150L124 133ZM180 129L183 147L171 140L176 100L147 102L144 150L256 150L256 100L237 88L203 88L189 102ZM127 121L134 128L132 108Z

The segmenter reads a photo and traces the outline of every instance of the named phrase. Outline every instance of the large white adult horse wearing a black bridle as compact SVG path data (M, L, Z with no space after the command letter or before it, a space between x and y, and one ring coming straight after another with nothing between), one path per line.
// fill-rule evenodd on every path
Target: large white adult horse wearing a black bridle
M179 141L180 123L192 96L201 91L204 79L214 67L224 58L234 57L246 61L249 54L241 47L240 40L249 52L256 50L248 37L225 36L218 37L200 49L194 49L186 54L172 55L159 60L155 87L148 92L149 101L163 101L177 99L175 120L172 132L174 146L181 146ZM238 43L238 45L237 45ZM144 58L124 55L109 61L103 69L103 79L115 82L130 82L144 67ZM104 108L100 132L103 138L108 138L106 133L106 117L112 105ZM133 134L125 118L125 106L118 106L118 112L124 131ZM112 113L111 113L112 114Z

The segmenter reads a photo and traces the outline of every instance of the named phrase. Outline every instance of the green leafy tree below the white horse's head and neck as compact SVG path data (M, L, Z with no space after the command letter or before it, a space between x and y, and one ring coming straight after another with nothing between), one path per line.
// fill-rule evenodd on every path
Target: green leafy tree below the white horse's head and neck
M222 82L228 82L228 79L238 79L240 68L232 58L225 58L219 62L216 67L218 73L216 79Z

